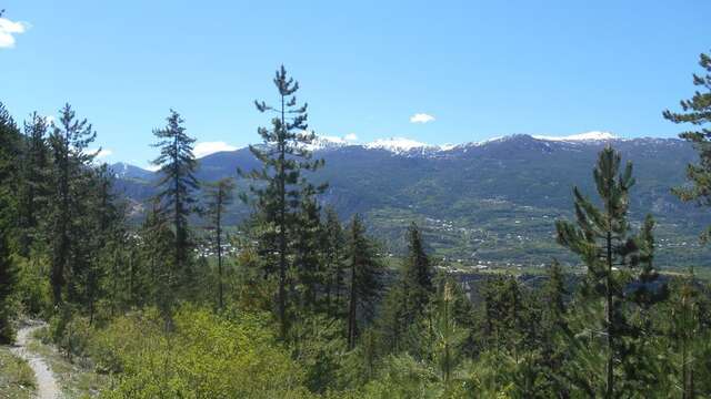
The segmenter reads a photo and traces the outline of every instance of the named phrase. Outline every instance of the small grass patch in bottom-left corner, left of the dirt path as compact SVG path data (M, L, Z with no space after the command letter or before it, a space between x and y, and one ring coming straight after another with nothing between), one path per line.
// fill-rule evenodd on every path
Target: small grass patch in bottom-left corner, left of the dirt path
M30 365L8 347L0 347L0 398L32 398L34 390L34 372Z

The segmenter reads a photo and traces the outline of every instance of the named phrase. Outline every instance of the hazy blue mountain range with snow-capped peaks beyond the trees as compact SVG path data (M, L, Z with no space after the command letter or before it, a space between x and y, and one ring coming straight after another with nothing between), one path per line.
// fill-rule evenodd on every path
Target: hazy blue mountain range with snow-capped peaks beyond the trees
M408 139L361 145L319 137L310 150L326 161L326 167L311 177L329 183L323 204L336 207L343 219L362 214L390 254L402 253L404 229L417 222L439 260L481 267L542 265L553 257L574 263L554 242L554 221L572 217L574 185L595 197L592 168L605 145L633 163L637 184L630 215L633 226L647 213L655 217L658 262L711 266L711 253L698 239L711 223L711 213L670 192L684 183L685 165L698 160L692 146L678 139L620 139L590 132L435 146ZM199 165L201 181L259 166L247 147L207 155ZM140 217L156 191L157 174L123 163L111 167L117 188ZM246 186L238 182L238 190ZM236 204L230 221L237 223L248 212L248 206Z

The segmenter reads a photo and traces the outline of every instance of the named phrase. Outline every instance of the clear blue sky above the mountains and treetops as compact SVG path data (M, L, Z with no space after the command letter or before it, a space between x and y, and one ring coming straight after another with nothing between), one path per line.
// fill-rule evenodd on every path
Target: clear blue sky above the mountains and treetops
M6 23L4 35L0 25L0 101L18 119L70 102L93 123L107 161L141 166L170 108L199 142L257 142L257 126L269 121L252 101L274 99L281 63L323 135L432 144L593 130L673 136L680 129L661 111L692 93L698 54L711 49L707 0L4 0L0 8L24 22L10 33ZM433 120L412 123L419 113Z

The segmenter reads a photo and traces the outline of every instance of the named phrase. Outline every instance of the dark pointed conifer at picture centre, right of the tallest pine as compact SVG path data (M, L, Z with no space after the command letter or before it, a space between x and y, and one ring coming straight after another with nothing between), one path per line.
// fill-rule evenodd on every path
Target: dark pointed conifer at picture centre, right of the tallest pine
M371 318L374 313L381 288L382 265L375 257L372 243L365 236L360 216L353 216L349 229L348 347L353 349L359 335L358 321Z

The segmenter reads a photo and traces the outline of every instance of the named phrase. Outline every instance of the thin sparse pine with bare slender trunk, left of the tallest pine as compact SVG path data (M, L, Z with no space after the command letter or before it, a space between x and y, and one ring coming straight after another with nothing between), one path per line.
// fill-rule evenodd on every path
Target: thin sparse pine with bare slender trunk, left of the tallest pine
M223 280L222 280L222 226L224 212L232 204L234 197L234 180L226 177L207 186L208 215L210 215L211 228L214 232L214 248L218 254L218 308L224 308Z

